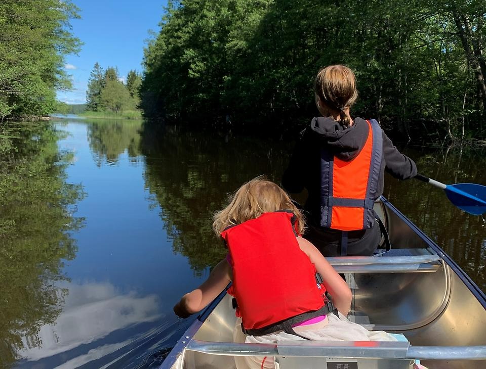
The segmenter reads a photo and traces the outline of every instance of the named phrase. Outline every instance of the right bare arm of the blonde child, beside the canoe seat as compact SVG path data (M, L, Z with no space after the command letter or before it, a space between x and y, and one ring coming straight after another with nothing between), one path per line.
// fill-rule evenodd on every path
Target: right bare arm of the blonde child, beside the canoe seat
M333 296L333 304L343 315L347 315L351 308L351 290L346 281L338 274L336 269L326 260L325 257L309 241L297 237L300 249L309 256L314 263L315 269L320 274L326 290Z

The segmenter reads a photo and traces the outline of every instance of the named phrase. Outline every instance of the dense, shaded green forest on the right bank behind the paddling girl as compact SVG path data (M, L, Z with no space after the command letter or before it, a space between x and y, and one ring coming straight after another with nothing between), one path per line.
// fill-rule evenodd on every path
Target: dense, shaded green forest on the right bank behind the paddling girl
M484 139L484 2L169 1L145 48L141 106L177 122L297 128L330 64L357 77L353 114L407 140Z

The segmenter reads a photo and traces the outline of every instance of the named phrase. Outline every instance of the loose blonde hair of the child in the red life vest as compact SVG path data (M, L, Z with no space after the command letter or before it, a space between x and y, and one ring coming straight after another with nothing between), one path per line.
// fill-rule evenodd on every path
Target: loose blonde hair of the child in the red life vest
M229 225L241 224L258 218L263 213L291 210L297 216L297 230L302 234L305 227L302 212L292 203L290 196L277 184L256 177L241 186L230 197L230 203L213 217L213 230L217 236Z

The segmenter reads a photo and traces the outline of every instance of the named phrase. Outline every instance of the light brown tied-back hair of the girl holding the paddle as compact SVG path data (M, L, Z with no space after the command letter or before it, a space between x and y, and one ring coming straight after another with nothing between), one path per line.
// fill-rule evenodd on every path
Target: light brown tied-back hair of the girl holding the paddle
M341 112L342 125L350 121L344 111L350 108L358 98L356 76L344 65L330 65L317 73L314 81L314 91L320 101Z

